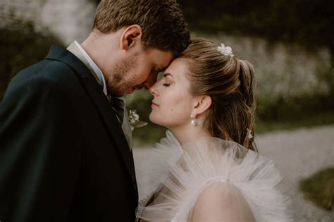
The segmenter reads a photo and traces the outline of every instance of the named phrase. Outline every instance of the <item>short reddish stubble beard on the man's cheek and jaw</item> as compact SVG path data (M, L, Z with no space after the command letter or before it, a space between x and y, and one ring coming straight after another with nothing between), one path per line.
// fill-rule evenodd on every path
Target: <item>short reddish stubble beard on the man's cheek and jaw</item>
M135 81L128 75L131 70L135 70L139 55L140 52L136 52L113 67L110 72L112 78L106 82L109 94L114 97L122 97L125 90L135 87L132 83Z

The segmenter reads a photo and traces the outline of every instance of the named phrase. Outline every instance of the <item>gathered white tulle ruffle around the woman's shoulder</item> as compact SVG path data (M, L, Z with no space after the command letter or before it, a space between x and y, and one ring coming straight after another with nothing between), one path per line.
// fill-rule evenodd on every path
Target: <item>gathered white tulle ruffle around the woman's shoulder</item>
M290 198L276 189L282 178L274 162L235 142L202 137L181 146L167 131L150 165L152 190L140 201L137 218L190 221L202 214L194 212L200 195L219 185L224 218L292 221Z

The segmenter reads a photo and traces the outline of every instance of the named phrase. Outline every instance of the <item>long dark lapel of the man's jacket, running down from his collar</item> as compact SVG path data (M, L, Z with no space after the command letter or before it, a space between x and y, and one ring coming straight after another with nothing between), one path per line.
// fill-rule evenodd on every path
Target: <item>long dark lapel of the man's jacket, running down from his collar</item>
M104 95L101 86L94 80L94 77L90 73L89 69L70 51L63 49L63 47L53 46L47 56L47 59L61 61L66 63L68 66L73 68L78 77L82 80L82 85L84 86L87 94L92 99L92 102L99 112L102 122L105 128L109 132L109 136L113 139L115 147L117 147L125 163L130 178L132 180L132 185L137 193L137 182L135 178L135 166L133 164L132 154L130 153L130 147L125 139L125 135L121 128L120 123L113 113L111 104L109 104L108 99Z

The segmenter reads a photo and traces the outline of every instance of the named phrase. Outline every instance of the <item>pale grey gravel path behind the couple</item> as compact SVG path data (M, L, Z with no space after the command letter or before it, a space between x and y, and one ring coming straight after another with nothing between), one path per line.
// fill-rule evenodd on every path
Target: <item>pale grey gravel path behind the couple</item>
M256 136L259 152L276 161L283 176L283 190L292 197L295 221L334 222L334 210L323 211L304 200L298 190L301 178L323 168L334 167L334 125L278 131ZM149 166L151 147L134 147L135 167L140 197L149 187L145 169ZM334 189L334 187L333 187Z

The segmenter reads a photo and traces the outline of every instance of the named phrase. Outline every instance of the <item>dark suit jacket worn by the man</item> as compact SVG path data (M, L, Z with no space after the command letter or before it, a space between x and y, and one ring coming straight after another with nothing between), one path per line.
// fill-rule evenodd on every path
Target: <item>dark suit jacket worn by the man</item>
M137 201L109 101L77 57L51 47L0 103L0 221L134 221Z

